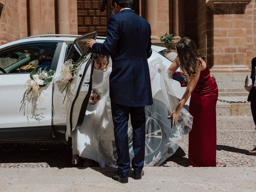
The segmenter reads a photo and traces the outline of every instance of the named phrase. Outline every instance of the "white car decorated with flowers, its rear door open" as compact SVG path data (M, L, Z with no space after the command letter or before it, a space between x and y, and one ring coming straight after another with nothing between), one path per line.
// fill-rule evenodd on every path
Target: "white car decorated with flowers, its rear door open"
M68 141L72 130L84 120L92 88L92 54L82 63L73 80L76 84L75 98L68 105L66 102L62 104L64 95L56 78L61 76L62 65L67 58L71 56L74 61L80 58L88 38L104 42L106 38L96 34L40 35L0 46L0 142ZM160 57L167 67L170 66L170 60L161 54L164 49L152 46L153 53L148 61ZM48 86L42 87L40 96L44 102L32 98L30 103L24 104L21 100L27 88L26 81L30 79L30 71L40 64L50 66L55 72L54 78ZM179 71L173 79L172 88L181 98L186 81Z

